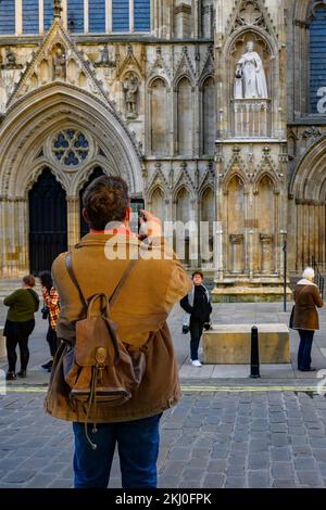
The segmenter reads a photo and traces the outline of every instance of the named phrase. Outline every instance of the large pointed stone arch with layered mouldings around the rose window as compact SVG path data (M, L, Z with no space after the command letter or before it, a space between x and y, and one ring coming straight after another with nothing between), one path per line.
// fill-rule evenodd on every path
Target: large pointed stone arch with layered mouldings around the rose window
M125 178L131 193L142 190L138 153L117 116L91 94L55 82L14 103L0 127L0 188L4 193L24 194L22 183L28 182L35 167L40 140L64 124L100 137L113 173Z

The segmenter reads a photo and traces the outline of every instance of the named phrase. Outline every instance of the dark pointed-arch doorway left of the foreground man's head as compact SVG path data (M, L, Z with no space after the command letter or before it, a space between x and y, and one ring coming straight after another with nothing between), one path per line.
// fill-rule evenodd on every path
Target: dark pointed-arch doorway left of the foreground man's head
M66 195L49 168L28 193L30 272L50 270L54 258L67 250Z

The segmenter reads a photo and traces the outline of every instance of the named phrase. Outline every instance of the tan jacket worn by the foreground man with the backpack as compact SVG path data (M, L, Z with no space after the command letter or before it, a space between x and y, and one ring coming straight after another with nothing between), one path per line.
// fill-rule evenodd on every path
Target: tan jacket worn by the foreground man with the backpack
M140 248L140 253L147 256L147 259L139 258L111 310L112 319L118 326L120 339L139 348L147 343L150 332L155 331L156 334L148 345L146 372L133 398L120 407L97 404L88 420L95 423L154 416L178 401L177 365L166 319L174 304L191 289L189 277L171 250L173 258L148 258L151 254L160 257L162 246L151 248L136 237L126 238L124 234L87 234L72 251L73 267L86 298L99 292L110 296L129 263L128 259L106 258L105 243L113 240L122 250L135 252ZM83 305L67 273L65 257L65 253L59 255L52 266L61 302L57 333L59 339L74 342L75 321L83 315ZM83 422L86 421L86 410L83 404L70 401L70 388L63 378L65 349L66 343L63 342L54 359L46 409L55 418Z

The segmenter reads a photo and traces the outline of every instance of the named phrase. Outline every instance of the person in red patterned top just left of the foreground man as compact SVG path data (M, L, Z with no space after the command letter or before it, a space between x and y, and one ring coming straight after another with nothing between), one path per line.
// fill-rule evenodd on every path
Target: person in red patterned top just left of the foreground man
M53 286L53 280L50 271L41 272L39 279L42 286L42 295L45 302L45 306L42 309L43 318L48 318L49 320L47 342L49 344L51 354L51 359L47 364L42 365L42 368L51 372L53 358L58 349L58 337L55 333L55 328L60 314L59 294L57 292L57 289Z

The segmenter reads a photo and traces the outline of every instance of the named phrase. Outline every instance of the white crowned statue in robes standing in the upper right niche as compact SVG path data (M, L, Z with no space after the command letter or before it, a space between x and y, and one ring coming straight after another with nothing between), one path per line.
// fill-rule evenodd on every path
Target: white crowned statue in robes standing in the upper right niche
M262 59L253 51L254 43L247 43L247 52L243 53L236 67L235 99L267 99L267 82Z

